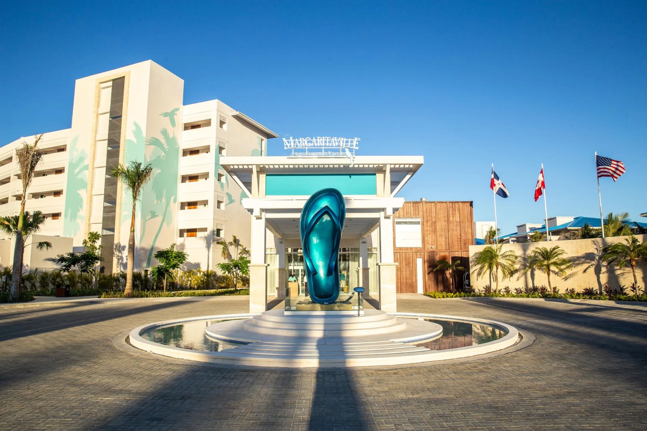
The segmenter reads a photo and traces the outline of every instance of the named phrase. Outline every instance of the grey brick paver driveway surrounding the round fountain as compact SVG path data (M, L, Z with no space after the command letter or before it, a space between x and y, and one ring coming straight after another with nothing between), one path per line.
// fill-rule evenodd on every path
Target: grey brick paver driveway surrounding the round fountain
M247 297L0 308L0 429L647 429L647 308L399 298L534 344L461 363L250 370L151 359L113 339L146 322L245 312Z

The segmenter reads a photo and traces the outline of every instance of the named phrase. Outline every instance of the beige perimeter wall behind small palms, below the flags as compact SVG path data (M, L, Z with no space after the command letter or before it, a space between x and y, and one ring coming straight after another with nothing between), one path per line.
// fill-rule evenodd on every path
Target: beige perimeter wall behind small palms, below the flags
M644 242L647 240L647 235L636 235L636 237ZM614 242L624 241L627 237L611 237L611 238L594 238L586 240L567 240L559 242L523 242L519 244L503 244L503 251L512 250L516 253L519 259L520 271L512 276L512 279L502 280L499 274L499 288L510 286L514 288L531 288L532 286L548 286L548 281L544 273L531 273L525 272L523 264L525 257L527 257L532 249L536 247L553 247L560 246L566 252L566 257L573 261L573 269L570 269L562 279L556 275L551 275L551 283L560 289L560 293L564 293L565 289L574 288L576 291L582 291L584 288L602 289L602 286L608 285L611 288L618 286L630 286L633 283L633 276L631 275L631 268L617 268L615 265L608 266L606 262L602 262L600 255L602 248ZM470 246L470 261L474 255L487 246ZM472 271L472 286L476 288L483 288L489 284L490 280L488 275L484 275L481 279L476 279L474 268ZM638 284L641 286L647 285L647 263L639 262L636 270ZM494 286L494 280L492 281Z

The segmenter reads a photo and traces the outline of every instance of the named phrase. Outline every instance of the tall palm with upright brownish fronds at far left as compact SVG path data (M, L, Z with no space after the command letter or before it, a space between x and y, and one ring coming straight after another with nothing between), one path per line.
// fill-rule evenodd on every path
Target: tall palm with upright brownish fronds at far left
M11 276L11 290L9 291L9 302L18 299L20 291L20 280L23 276L23 225L25 224L25 201L27 200L27 187L34 178L36 166L43 157L43 152L38 148L38 143L43 135L34 135L34 143L29 144L23 141L23 146L16 149L16 158L20 167L20 179L23 182L23 193L20 195L20 215L16 225L16 246L14 247L14 266Z

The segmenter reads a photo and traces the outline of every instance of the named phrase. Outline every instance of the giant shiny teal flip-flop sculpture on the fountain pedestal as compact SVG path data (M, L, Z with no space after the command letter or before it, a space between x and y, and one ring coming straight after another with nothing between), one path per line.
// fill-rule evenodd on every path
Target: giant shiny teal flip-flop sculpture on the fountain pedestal
M314 193L303 205L301 244L310 299L331 304L339 296L339 244L346 217L344 196L337 189Z

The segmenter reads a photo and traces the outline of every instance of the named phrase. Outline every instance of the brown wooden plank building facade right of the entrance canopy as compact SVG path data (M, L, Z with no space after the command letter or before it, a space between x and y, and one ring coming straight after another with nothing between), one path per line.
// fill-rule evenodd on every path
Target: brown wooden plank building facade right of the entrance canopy
M396 247L395 219L420 218L422 247ZM438 260L460 259L469 270L469 247L474 245L474 214L472 202L404 202L393 215L394 258L398 263L397 292L416 293L417 258L422 258L424 291L449 291L451 280L441 271L432 271ZM461 286L459 273L457 286Z

